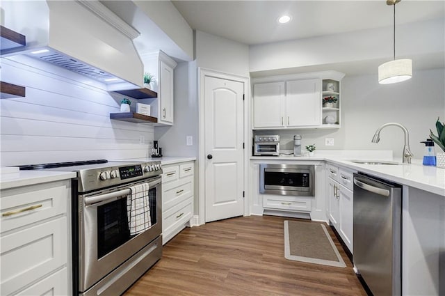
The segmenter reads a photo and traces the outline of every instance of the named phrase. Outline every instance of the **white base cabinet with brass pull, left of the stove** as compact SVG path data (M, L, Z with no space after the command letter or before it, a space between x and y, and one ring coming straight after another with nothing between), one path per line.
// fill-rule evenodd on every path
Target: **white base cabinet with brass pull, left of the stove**
M70 194L69 180L1 191L1 295L70 294Z

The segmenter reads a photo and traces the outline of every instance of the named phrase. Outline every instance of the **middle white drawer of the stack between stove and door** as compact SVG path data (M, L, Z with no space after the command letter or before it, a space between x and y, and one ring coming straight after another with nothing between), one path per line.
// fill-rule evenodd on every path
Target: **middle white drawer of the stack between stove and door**
M169 184L163 188L162 210L164 212L178 203L181 203L181 201L184 201L186 198L193 196L193 178L188 177L184 180L186 182L181 181L182 180L173 183L172 185L175 185L173 187L169 186Z

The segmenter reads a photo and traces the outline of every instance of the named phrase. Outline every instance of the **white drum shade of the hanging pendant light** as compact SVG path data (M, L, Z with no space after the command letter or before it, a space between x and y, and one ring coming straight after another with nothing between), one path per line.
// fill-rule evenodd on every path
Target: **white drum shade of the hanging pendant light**
M378 66L378 82L380 84L395 84L412 77L411 59L400 59L382 63Z

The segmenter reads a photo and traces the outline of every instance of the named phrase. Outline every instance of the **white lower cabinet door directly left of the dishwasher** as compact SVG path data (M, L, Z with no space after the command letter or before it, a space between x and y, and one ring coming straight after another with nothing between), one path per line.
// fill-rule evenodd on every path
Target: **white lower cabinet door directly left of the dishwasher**
M341 186L340 186L341 187ZM353 192L340 188L340 235L349 251L353 253Z

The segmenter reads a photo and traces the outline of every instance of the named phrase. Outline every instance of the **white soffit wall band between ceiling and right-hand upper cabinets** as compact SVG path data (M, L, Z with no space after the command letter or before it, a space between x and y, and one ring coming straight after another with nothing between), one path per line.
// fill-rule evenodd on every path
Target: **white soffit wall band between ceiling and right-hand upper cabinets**
M396 57L425 59L444 53L444 19L398 25ZM392 59L392 29L379 28L305 38L264 45L252 45L250 72L310 65ZM421 42L420 42L421 40ZM325 69L328 70L328 69Z

